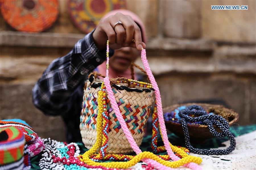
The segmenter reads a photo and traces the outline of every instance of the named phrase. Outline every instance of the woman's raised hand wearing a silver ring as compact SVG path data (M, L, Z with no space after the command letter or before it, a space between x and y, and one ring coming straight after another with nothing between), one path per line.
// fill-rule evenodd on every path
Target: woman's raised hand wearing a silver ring
M121 21L122 24L115 25L118 21ZM146 44L142 42L139 26L131 16L123 15L120 12L101 20L92 36L99 50L106 48L107 40L110 42L110 48L114 50L128 46L138 50L141 50L142 47L146 48ZM132 42L132 39L135 39L135 43Z

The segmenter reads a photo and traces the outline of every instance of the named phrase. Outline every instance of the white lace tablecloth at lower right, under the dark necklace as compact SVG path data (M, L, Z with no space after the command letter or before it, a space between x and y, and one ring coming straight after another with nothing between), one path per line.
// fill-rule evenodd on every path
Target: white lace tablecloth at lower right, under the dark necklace
M236 139L236 149L228 155L199 155L193 156L201 157L203 162L200 164L202 169L255 169L256 167L256 131L241 135ZM230 144L229 141L223 143L225 147L218 149L225 149ZM214 148L215 149L215 148ZM137 163L133 169L143 169L141 164ZM182 170L187 168L181 168Z

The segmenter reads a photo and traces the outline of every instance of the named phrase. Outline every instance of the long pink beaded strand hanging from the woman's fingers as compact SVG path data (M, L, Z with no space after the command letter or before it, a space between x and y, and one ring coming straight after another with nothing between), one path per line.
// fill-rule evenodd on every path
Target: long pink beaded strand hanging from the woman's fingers
M107 43L107 53L109 52L109 44ZM177 157L174 152L172 151L172 148L170 146L170 143L168 141L168 136L167 136L167 132L166 132L166 127L164 124L164 117L163 117L163 111L162 111L162 101L161 101L161 96L160 96L160 91L158 88L158 85L156 83L156 80L150 70L149 64L148 64L148 60L146 58L146 50L142 48L141 50L141 59L143 62L143 65L145 67L146 73L149 77L149 80L152 84L152 87L155 89L155 95L156 95L156 104L157 104L157 112L158 112L158 121L159 121L159 125L160 125L160 130L161 130L161 134L162 134L162 139L164 142L164 146L166 148L166 151L168 153L168 155L170 156L170 158L174 161L178 161L180 158ZM136 144L135 140L133 139L131 132L129 131L125 120L123 119L123 116L120 113L120 110L118 108L117 102L115 100L112 88L110 86L110 80L108 77L108 68L109 68L109 57L107 57L107 70L106 70L106 77L104 78L104 84L106 86L106 91L108 93L109 99L110 99L110 103L112 105L113 110L115 111L115 115L117 117L117 120L119 121L121 128L123 129L123 132L125 134L125 137L127 138L127 140L129 141L131 147L133 148L133 150L135 151L136 154L141 153L141 149L139 148L139 146ZM145 163L151 164L153 167L157 168L157 169L171 169L169 167L166 167L154 160L151 159L143 159L142 160ZM191 169L201 169L201 167L199 165L197 165L196 163L187 163L184 165L185 167L191 168Z

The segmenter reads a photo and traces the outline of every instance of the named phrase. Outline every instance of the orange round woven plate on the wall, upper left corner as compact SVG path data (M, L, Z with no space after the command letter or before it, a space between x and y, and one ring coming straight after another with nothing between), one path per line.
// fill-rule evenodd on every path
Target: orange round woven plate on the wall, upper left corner
M59 14L58 0L0 0L0 8L5 21L24 32L44 31Z

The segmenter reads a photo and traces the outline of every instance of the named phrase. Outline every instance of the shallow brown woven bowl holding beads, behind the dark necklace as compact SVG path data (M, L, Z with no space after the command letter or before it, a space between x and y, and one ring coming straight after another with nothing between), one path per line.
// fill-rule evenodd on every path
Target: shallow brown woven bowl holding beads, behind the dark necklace
M235 113L235 116L232 120L228 120L229 125L231 126L232 124L234 124L235 122L238 121L239 115L238 113L234 112L232 109L227 109L222 105L211 105L211 104L205 104L205 103L185 103L185 104L176 104L176 105L172 105L169 107L166 107L163 109L163 112L171 112L174 111L175 109L177 109L180 106L189 106L189 105L200 105L201 107L203 107L203 109L205 109L207 111L207 109L209 107L215 107L215 108L222 108L224 109L227 113ZM174 134L176 134L177 136L184 138L184 134L183 134L183 130L181 127L180 123L175 123L172 121L165 121L166 124L166 128L168 130L170 130L171 132L173 132ZM219 128L217 128L216 126L214 126L217 132L221 132ZM206 139L210 139L213 138L214 136L212 136L212 134L209 131L208 126L206 125L191 125L188 124L188 130L189 130L189 135L190 135L190 139L191 141L204 141Z

